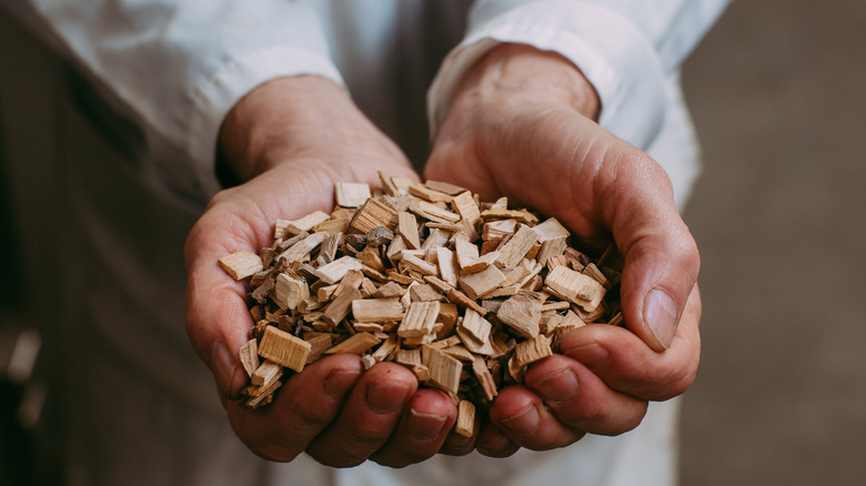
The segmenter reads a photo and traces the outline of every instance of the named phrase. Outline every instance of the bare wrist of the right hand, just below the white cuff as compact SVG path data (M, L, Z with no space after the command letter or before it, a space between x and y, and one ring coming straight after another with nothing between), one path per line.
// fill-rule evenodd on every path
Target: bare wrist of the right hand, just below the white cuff
M595 88L568 59L517 43L501 44L486 53L461 82L455 100L465 94L528 97L570 107L594 121L601 112Z

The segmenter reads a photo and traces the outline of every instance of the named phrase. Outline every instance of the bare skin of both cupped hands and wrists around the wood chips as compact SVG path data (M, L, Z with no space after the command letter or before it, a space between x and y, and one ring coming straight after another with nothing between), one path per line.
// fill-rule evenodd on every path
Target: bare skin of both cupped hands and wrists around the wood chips
M235 399L246 381L239 350L253 323L244 284L216 260L269 245L276 219L330 211L334 182L377 185L380 170L417 180L402 152L330 81L279 79L242 99L221 129L220 150L246 182L213 198L184 251L190 342L250 449L281 462L306 452L336 467L367 459L402 467L473 449L504 457L521 447L566 446L586 433L624 433L640 424L648 401L688 388L699 356L694 240L664 171L601 129L598 110L574 65L505 44L466 75L440 128L425 176L485 200L506 195L598 247L614 236L626 261L628 331L588 325L568 334L562 355L531 366L525 384L504 389L475 434L462 437L451 433L456 408L445 394L419 388L400 365L362 372L358 356L309 365L268 407L246 409ZM648 294L669 302L653 311Z

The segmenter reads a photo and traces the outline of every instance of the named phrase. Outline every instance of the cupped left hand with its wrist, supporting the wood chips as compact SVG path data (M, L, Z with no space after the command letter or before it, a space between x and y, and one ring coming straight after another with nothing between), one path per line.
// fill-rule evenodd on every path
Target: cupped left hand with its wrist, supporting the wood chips
M453 402L419 389L415 375L392 363L363 372L358 356L326 357L289 378L268 407L243 407L239 350L253 322L245 283L216 264L270 245L276 219L330 211L335 181L377 185L379 170L416 180L405 156L341 88L314 77L275 80L241 100L220 149L248 182L216 194L189 235L187 330L238 436L268 459L289 462L305 450L330 466L367 458L402 466L439 452L456 417Z

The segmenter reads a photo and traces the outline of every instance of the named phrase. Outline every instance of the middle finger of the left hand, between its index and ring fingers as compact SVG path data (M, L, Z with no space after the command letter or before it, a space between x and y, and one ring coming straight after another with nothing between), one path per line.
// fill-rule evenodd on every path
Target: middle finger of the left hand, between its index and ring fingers
M379 363L358 381L336 422L306 452L325 466L352 467L366 460L391 437L417 389L417 377L393 363Z

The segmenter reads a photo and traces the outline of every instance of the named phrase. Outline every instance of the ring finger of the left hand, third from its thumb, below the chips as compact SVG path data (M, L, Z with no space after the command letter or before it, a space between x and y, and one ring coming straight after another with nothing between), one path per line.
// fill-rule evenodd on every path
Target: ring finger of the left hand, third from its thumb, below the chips
M456 417L457 409L447 395L437 389L419 389L394 434L371 459L390 467L429 459L445 443Z

